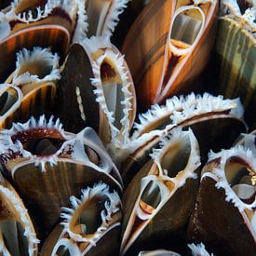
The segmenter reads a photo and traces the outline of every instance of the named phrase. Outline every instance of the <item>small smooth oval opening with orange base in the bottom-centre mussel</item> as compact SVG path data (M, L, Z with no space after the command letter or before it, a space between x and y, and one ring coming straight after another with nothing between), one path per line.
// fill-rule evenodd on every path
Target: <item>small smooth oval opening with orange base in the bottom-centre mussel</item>
M146 214L152 214L161 202L161 191L157 183L150 181L141 195L140 207Z

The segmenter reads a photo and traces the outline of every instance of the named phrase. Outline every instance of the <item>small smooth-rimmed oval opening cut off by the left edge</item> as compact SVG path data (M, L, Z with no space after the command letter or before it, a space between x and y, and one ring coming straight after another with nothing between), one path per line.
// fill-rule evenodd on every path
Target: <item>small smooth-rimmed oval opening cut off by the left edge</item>
M19 94L14 88L7 88L0 96L0 116L5 115L7 111L19 100Z

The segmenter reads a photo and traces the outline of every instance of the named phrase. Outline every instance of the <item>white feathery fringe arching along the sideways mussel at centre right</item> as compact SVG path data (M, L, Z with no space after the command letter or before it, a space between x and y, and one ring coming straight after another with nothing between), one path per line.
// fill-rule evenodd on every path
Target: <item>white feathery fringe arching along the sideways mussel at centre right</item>
M223 100L222 96L215 97L209 93L204 93L203 96L195 96L195 93L179 98L174 96L166 101L166 105L156 104L145 114L139 115L140 123L134 124L136 130L132 135L132 140L138 139L144 129L149 128L163 117L170 119L170 125L179 125L182 121L195 115L228 110L230 110L230 115L235 115L238 118L241 118L244 113L243 106L238 99Z

